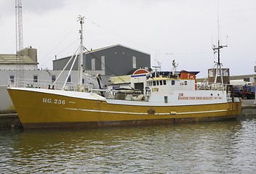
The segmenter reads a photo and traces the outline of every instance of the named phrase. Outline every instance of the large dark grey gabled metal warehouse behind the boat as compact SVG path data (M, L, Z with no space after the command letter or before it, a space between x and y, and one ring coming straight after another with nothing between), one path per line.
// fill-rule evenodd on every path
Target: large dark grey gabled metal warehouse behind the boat
M63 70L70 57L53 60L53 70ZM86 72L95 75L127 75L140 67L151 67L151 55L120 44L95 49L84 53L84 67ZM78 69L77 60L73 70ZM70 70L71 63L67 70ZM85 69L85 68L84 68Z

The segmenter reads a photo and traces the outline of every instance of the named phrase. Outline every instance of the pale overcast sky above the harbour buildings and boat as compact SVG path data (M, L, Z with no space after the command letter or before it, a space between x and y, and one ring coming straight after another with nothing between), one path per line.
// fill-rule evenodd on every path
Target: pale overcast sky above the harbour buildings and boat
M73 54L79 46L79 22L86 17L84 46L121 44L151 54L162 70L200 71L207 76L217 54L219 16L223 67L231 75L253 74L256 62L255 0L23 0L23 47L38 51L39 67ZM217 15L218 14L218 15ZM227 37L228 36L228 37ZM0 1L0 54L14 54L15 0Z

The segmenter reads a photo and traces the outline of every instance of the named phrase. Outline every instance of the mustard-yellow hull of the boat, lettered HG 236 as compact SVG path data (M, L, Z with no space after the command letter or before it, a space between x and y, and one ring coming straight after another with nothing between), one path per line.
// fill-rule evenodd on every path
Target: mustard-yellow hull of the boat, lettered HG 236
M7 90L23 128L183 123L223 120L235 118L241 114L241 102L140 106L138 104L109 104L105 100L82 99L12 88L7 88Z

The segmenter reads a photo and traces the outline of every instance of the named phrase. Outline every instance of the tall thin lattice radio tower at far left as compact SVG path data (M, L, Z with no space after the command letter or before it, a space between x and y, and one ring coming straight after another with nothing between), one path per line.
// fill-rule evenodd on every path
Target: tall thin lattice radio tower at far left
M24 65L23 65L23 13L21 0L15 0L16 14L16 72L18 86L23 85Z

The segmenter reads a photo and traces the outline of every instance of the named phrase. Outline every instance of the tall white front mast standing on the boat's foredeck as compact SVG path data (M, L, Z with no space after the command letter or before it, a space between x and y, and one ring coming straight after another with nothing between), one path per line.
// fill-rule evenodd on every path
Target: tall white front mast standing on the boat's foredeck
M81 30L80 32L80 56L78 59L78 69L79 69L79 80L78 80L78 91L81 91L81 86L82 86L82 80L83 80L83 49L84 49L84 43L83 43L83 24L84 24L84 17L79 16L79 22L81 25Z

